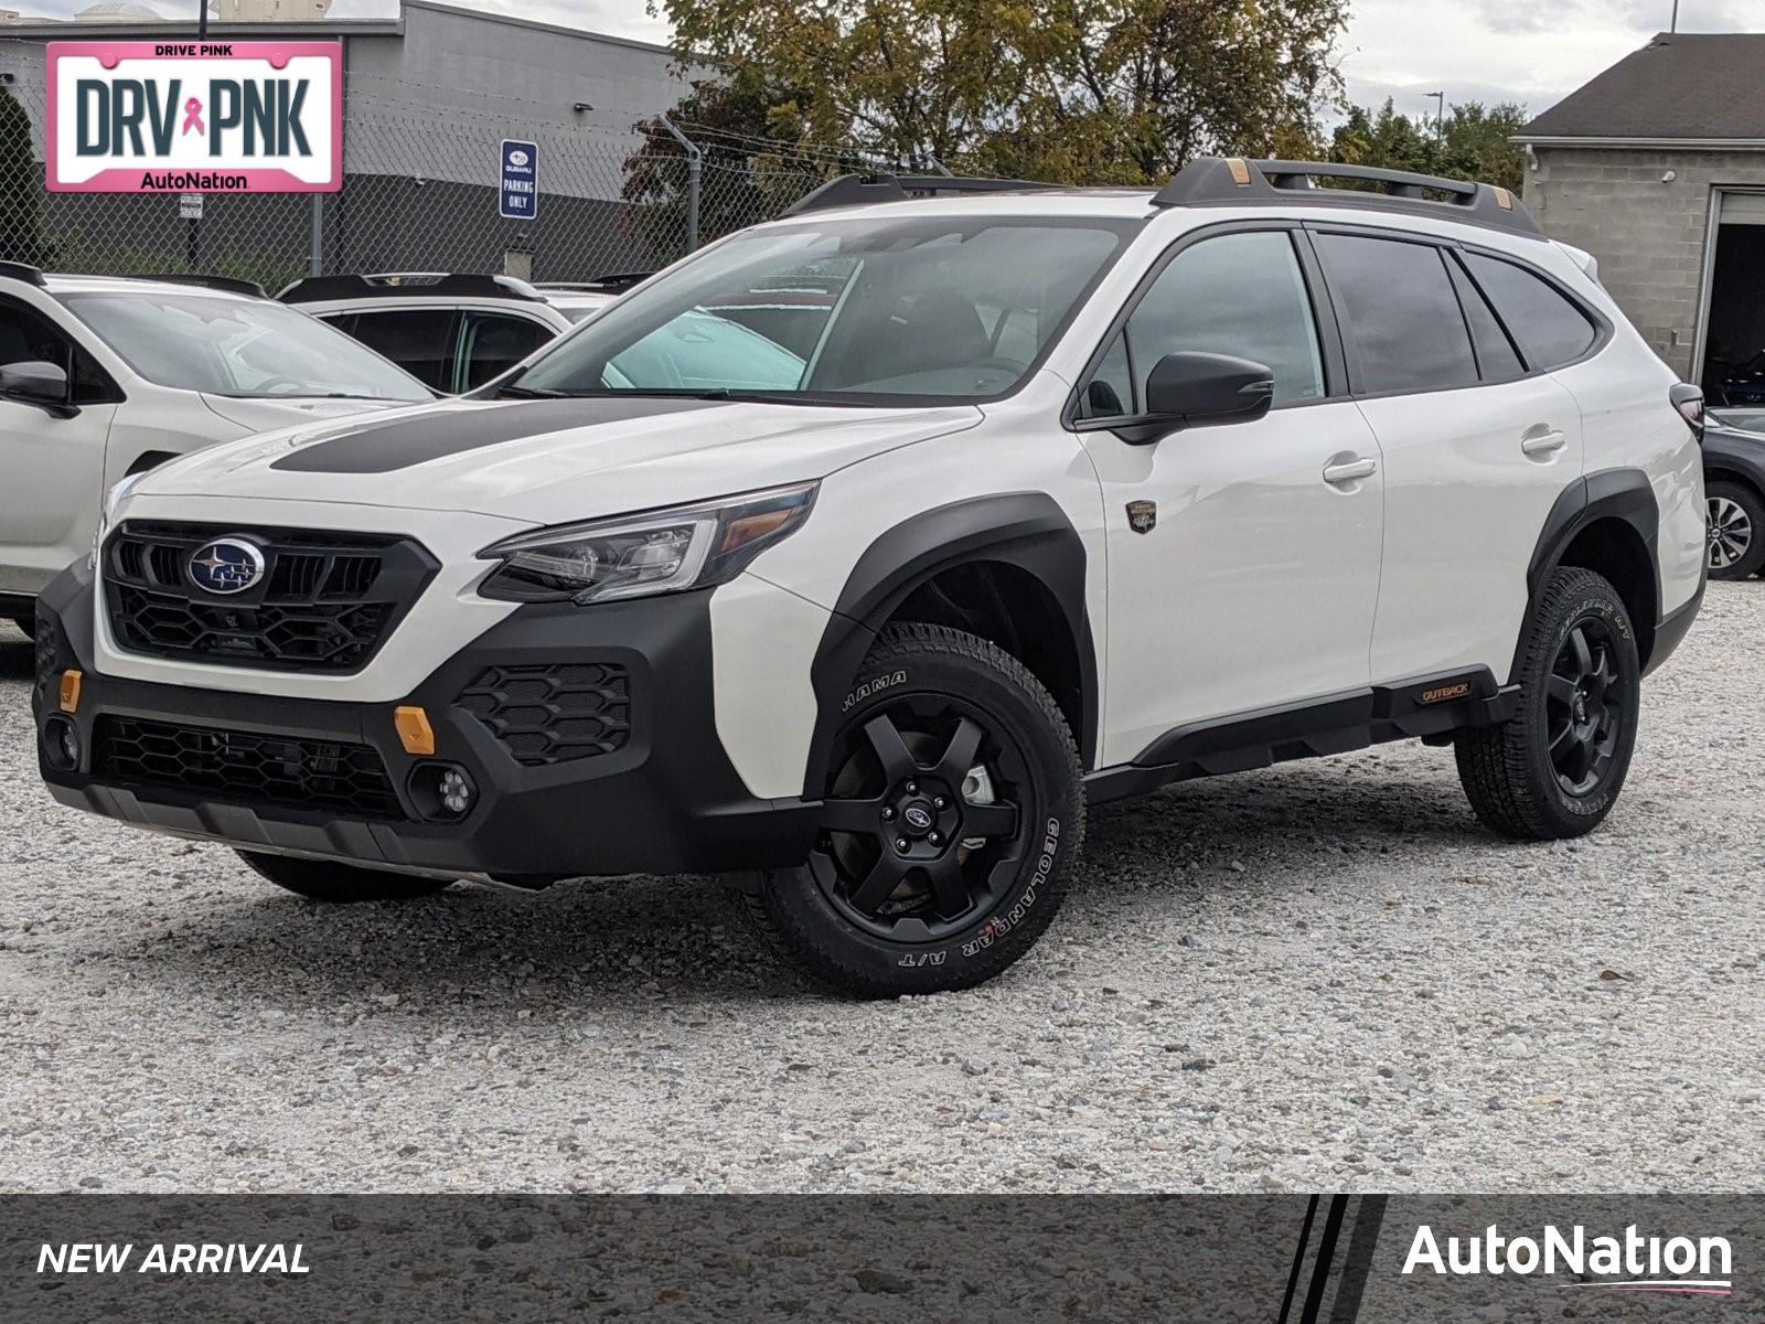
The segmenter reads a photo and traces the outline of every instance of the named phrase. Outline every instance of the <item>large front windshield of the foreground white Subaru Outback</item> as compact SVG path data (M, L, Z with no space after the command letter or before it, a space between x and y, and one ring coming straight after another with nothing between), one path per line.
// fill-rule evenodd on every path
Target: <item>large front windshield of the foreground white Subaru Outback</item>
M1135 222L828 221L736 237L503 385L877 404L1015 390Z

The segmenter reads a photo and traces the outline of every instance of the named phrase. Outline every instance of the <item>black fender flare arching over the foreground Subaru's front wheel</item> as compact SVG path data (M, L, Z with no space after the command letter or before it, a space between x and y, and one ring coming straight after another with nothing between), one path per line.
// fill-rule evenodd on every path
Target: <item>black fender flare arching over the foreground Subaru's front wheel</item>
M810 666L817 717L803 782L807 800L821 800L840 703L890 616L941 570L981 561L1025 570L1061 606L1078 655L1082 688L1082 729L1073 736L1084 766L1091 768L1098 658L1085 611L1085 544L1047 493L999 493L951 501L895 524L865 549L845 577Z

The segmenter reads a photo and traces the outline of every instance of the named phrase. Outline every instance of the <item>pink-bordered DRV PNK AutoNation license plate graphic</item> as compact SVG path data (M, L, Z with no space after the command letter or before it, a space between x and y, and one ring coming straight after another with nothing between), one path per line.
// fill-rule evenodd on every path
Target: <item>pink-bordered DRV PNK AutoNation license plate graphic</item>
M51 192L342 187L335 41L51 41Z

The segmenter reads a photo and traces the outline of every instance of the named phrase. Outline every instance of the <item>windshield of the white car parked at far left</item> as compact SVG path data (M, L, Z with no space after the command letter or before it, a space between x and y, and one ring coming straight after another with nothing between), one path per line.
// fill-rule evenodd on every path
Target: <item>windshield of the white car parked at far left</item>
M268 300L143 290L64 295L62 302L161 387L259 399L434 399L362 342Z

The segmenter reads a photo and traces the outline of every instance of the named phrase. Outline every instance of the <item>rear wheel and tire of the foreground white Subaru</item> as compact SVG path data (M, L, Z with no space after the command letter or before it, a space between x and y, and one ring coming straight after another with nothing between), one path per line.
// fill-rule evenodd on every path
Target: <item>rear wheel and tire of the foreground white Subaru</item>
M1553 574L1532 604L1514 680L1520 713L1454 741L1472 809L1516 840L1592 831L1624 789L1641 701L1619 591L1592 570Z

